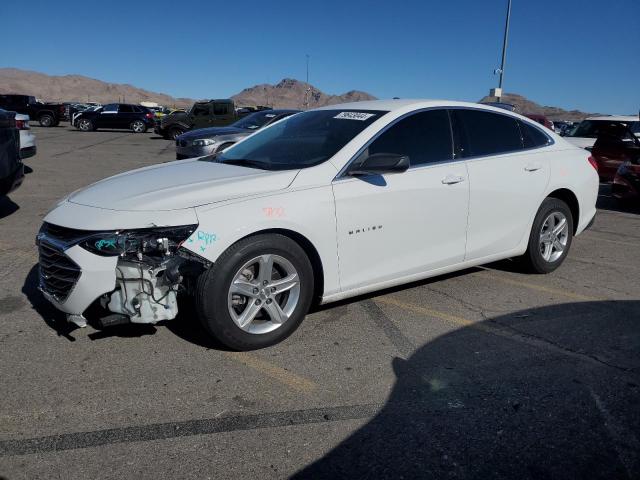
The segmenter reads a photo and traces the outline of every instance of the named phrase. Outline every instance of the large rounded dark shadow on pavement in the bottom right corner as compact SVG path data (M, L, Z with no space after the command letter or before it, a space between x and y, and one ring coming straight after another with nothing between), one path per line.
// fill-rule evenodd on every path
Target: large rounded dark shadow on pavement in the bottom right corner
M392 368L379 413L293 478L640 478L638 301L499 316Z

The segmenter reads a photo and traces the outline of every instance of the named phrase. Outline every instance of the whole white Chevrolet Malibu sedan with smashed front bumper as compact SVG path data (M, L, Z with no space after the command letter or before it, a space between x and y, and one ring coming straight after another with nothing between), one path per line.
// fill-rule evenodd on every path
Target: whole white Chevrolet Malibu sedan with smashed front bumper
M547 273L593 220L594 161L478 104L391 100L284 119L216 155L71 194L37 237L40 288L85 325L155 323L195 299L238 350L333 302L499 259Z

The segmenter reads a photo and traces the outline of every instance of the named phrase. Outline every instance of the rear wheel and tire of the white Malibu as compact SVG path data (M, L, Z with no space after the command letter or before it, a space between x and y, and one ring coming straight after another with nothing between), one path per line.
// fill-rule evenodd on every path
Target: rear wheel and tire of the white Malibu
M569 206L557 198L545 198L533 221L527 251L521 257L523 266L531 273L553 272L564 262L572 241Z

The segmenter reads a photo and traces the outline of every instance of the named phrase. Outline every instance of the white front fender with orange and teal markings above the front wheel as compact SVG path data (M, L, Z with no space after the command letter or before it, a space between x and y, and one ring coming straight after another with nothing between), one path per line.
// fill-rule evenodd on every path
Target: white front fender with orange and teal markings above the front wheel
M317 250L324 271L324 295L340 290L335 206L331 186L198 207L198 229L183 247L215 262L237 241L280 229L305 237Z

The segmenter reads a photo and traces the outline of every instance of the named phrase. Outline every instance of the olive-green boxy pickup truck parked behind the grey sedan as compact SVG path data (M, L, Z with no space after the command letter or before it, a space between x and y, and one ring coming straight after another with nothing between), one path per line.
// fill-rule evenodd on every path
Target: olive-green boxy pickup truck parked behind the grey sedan
M166 139L175 140L188 130L224 127L238 120L233 100L204 100L193 104L188 112L176 112L156 121L154 131Z

